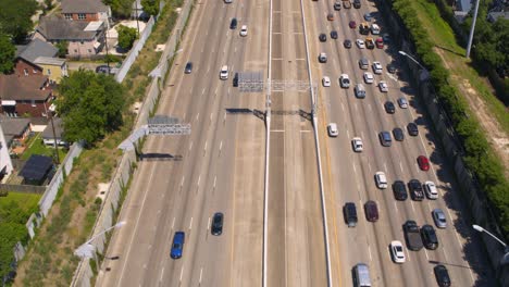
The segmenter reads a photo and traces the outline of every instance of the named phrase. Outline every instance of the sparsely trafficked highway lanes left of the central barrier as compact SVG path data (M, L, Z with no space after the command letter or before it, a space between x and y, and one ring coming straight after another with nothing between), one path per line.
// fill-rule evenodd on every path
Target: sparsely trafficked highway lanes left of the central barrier
M116 286L175 286L197 280L207 280L215 286L239 286L237 283L246 284L246 278L252 279L249 283L260 282L263 158L258 154L263 154L264 149L263 122L254 116L226 116L225 109L237 108L237 104L238 108L246 108L246 104L262 109L263 104L260 99L234 97L232 82L221 82L218 76L219 67L228 61L234 68L243 66L244 62L257 68L265 65L266 36L263 34L266 33L262 30L264 25L261 17L260 29L250 32L250 36L258 35L253 37L258 42L252 46L252 53L246 57L248 61L245 61L247 40L240 42L238 29L227 30L227 15L245 12L244 18L239 17L245 21L250 14L246 12L244 3L229 7L220 16L222 21L214 17L225 11L226 5L222 2L206 3L195 11L193 17L197 22L191 23L198 24L191 24L186 34L183 45L185 52L177 58L179 66L174 67L159 110L159 113L191 122L193 134L188 139L149 138L146 146L146 152L179 152L185 154L184 161L176 164L140 163L140 176L135 175L133 190L144 189L145 195L140 201L132 202L131 207L126 201L127 207L121 219L127 219L127 228L114 235L109 250L109 253L122 254L121 260L108 262L112 271L101 278L104 286L113 286L113 283ZM263 16L266 13L263 10L266 7L256 7L253 15ZM202 52L203 47L209 48L209 53ZM220 53L222 59L215 57ZM229 54L233 54L232 59L228 59ZM182 67L187 59L195 62L195 71L191 75L183 76ZM194 77L202 80L197 83ZM232 170L222 166L232 166ZM235 201L235 196L240 200ZM139 194L135 192L132 197L138 200ZM252 212L238 212L238 208ZM216 210L225 213L225 233L211 239L208 219ZM141 224L138 225L139 222ZM133 223L137 228L135 230ZM234 226L237 225L240 232L247 228L251 234L235 236ZM173 261L169 258L169 249L173 232L177 229L186 230L187 238L183 259ZM233 260L239 258L239 264L234 264ZM219 272L218 266L221 265L229 267L226 272ZM252 272L257 270L260 272Z

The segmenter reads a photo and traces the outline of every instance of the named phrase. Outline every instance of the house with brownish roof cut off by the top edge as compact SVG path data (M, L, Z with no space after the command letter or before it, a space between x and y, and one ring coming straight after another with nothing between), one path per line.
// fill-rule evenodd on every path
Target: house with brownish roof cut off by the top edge
M72 21L102 21L110 27L111 9L101 0L62 0L62 16Z

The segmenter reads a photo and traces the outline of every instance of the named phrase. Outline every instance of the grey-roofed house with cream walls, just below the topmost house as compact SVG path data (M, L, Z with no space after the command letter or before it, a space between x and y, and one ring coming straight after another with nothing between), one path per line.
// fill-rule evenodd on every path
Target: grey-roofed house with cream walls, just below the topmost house
M66 41L70 57L90 58L102 49L104 30L102 21L67 21L58 16L45 16L40 17L34 38L51 43Z

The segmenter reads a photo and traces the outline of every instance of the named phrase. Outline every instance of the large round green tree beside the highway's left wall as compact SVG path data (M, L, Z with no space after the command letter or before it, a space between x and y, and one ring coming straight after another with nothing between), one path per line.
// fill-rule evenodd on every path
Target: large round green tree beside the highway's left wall
M113 77L79 70L63 78L59 91L57 111L67 141L94 145L122 125L125 90Z

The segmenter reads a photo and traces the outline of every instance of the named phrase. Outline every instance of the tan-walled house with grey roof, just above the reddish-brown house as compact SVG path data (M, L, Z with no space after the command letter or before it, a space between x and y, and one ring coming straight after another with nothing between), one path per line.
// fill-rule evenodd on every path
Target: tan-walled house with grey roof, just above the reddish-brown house
M28 45L16 46L14 73L21 76L46 75L50 82L59 83L67 76L67 63L54 58L58 49L41 39L34 39Z

